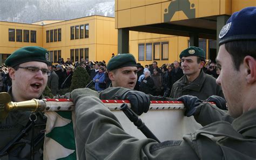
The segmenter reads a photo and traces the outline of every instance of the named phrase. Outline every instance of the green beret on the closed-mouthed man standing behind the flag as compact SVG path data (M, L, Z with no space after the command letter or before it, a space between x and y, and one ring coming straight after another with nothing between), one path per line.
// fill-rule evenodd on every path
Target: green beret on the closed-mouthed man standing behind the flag
M179 58L181 59L182 57L188 57L188 56L197 56L205 59L205 52L203 49L199 47L191 46L183 50L183 52L180 53Z

